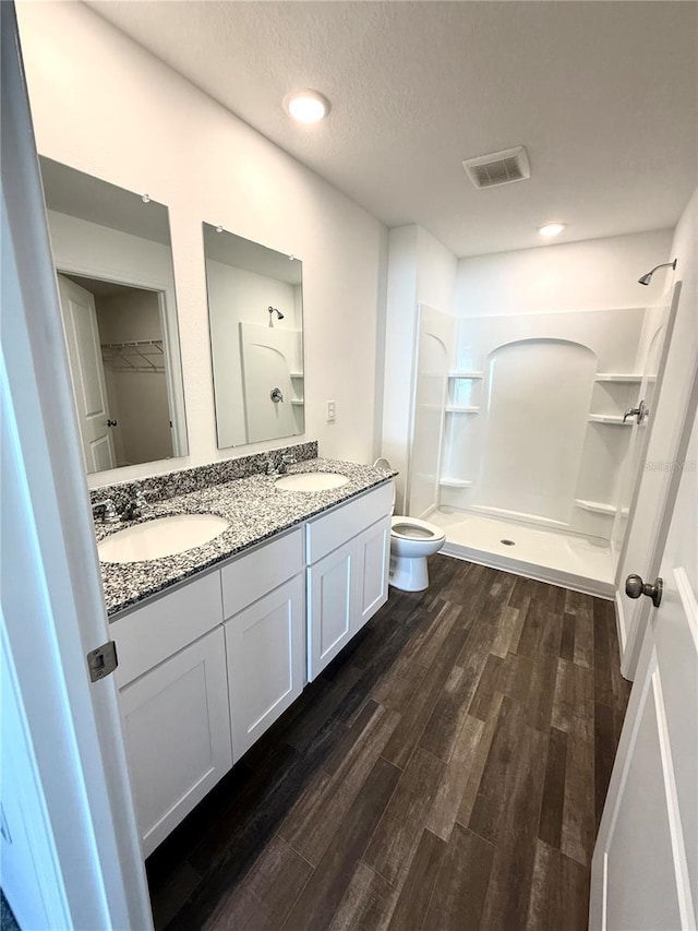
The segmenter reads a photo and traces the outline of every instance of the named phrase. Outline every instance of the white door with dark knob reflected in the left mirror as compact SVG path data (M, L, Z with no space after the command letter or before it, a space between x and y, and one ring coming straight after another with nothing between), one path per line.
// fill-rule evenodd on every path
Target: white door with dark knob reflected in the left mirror
M116 461L95 298L63 275L58 290L85 466L88 473L103 472Z

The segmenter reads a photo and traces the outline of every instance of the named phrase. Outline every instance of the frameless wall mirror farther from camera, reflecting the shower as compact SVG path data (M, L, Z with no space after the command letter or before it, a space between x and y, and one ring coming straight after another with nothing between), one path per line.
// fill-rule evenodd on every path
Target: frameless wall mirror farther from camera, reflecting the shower
M218 449L303 433L302 262L204 224Z

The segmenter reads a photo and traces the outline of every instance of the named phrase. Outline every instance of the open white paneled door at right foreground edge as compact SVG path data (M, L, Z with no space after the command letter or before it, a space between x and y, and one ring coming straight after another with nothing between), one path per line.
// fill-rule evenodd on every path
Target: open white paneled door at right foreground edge
M592 860L592 929L696 928L697 387L698 379L661 562L662 600L647 625Z

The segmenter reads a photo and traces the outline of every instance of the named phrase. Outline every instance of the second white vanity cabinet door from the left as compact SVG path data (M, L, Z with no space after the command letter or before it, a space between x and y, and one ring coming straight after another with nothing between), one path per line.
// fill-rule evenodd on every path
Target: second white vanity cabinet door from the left
M303 691L303 576L224 624L236 761Z

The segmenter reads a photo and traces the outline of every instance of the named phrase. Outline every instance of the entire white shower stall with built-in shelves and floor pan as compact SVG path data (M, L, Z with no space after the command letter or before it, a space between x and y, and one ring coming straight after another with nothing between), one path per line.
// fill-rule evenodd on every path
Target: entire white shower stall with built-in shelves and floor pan
M666 319L421 306L408 513L447 554L611 595Z

